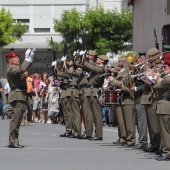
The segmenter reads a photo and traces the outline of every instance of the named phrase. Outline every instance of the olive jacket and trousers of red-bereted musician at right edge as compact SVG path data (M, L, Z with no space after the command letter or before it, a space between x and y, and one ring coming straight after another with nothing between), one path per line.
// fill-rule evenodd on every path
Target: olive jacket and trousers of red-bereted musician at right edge
M158 92L158 103L156 114L160 127L161 146L163 150L162 156L170 159L170 75L153 86L153 89Z

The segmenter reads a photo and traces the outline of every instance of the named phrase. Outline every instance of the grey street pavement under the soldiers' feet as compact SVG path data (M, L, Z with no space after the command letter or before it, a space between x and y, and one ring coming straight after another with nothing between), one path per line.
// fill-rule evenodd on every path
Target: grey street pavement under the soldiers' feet
M103 141L61 138L65 127L34 123L20 128L22 149L8 148L9 120L0 119L0 170L169 170L170 161L112 144L116 127L104 127Z

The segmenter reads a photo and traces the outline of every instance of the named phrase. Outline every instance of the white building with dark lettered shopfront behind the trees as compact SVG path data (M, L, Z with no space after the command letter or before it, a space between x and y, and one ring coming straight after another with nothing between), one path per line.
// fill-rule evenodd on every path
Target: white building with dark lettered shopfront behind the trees
M17 51L21 62L25 50L36 48L36 56L31 72L50 72L53 60L52 49L48 46L51 37L53 41L61 42L62 37L53 29L54 19L60 19L64 10L76 8L85 12L88 8L103 6L105 9L121 9L127 6L127 0L1 0L0 9L5 8L12 14L14 23L22 21L28 26L28 31L22 36L22 41L11 43L0 50L0 78L5 77L5 55ZM61 57L61 53L57 57Z

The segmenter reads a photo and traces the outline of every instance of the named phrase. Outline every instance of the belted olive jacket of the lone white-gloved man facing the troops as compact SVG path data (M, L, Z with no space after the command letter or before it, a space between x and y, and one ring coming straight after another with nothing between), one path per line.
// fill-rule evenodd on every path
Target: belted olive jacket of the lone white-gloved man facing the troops
M20 68L16 66L7 65L7 80L10 88L15 87L15 90L9 92L8 102L11 103L15 100L27 101L27 83L24 72L29 69L31 63L24 60ZM21 88L20 88L21 87Z

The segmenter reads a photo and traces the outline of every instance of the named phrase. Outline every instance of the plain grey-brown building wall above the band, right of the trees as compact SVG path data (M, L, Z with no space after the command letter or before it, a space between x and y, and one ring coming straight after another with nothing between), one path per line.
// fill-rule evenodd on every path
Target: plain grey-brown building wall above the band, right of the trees
M167 0L135 0L133 9L133 50L148 51L155 47L155 29L161 51L162 27L170 24Z

